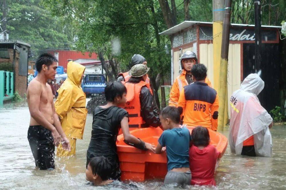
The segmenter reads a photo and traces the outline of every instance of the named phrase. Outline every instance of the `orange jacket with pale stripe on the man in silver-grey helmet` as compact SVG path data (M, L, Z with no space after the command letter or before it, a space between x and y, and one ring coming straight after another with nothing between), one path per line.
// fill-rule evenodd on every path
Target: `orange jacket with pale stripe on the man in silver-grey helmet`
M212 84L207 77L206 77L206 83L208 84L208 86L212 87ZM175 107L178 106L180 92L186 85L188 85L188 82L186 80L186 70L183 69L182 74L180 74L180 76L178 76L174 80L174 84L170 92L169 106L175 106Z

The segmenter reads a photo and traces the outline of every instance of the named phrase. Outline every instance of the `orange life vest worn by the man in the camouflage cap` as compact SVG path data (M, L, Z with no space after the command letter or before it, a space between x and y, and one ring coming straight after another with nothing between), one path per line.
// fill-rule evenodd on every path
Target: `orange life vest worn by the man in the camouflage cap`
M126 104L124 109L128 112L129 130L132 130L130 128L135 129L148 127L144 125L146 122L141 117L140 91L144 86L150 89L150 84L140 81L139 83L124 83L124 85L127 89ZM150 92L152 94L152 90L150 90Z

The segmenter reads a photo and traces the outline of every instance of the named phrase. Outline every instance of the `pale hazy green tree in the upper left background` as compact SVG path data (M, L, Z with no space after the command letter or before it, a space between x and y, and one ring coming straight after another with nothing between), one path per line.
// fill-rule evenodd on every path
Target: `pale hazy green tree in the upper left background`
M72 27L51 16L41 0L7 0L7 8L9 40L30 44L34 54L37 50L72 47Z

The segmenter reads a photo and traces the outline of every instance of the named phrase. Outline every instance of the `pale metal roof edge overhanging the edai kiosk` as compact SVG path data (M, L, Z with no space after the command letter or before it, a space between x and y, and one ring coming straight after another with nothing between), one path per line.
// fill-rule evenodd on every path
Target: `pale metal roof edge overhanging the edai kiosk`
M185 28L188 28L192 25L195 24L212 24L212 22L200 22L200 21L184 21L176 26L173 26L172 28L169 28L168 30L165 30L163 32L160 32L160 35L172 35L175 34ZM249 26L249 27L254 27L254 24L231 24L231 26ZM266 26L266 25L261 25L263 28L282 28L281 26Z

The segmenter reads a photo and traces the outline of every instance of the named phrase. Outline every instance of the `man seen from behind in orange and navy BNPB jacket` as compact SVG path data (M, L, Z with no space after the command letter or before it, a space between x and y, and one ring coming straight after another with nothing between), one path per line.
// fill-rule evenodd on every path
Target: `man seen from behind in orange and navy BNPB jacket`
M205 82L206 71L204 64L195 64L192 67L194 83L185 86L180 92L178 109L180 113L184 111L183 124L203 126L216 131L219 100L217 91Z

